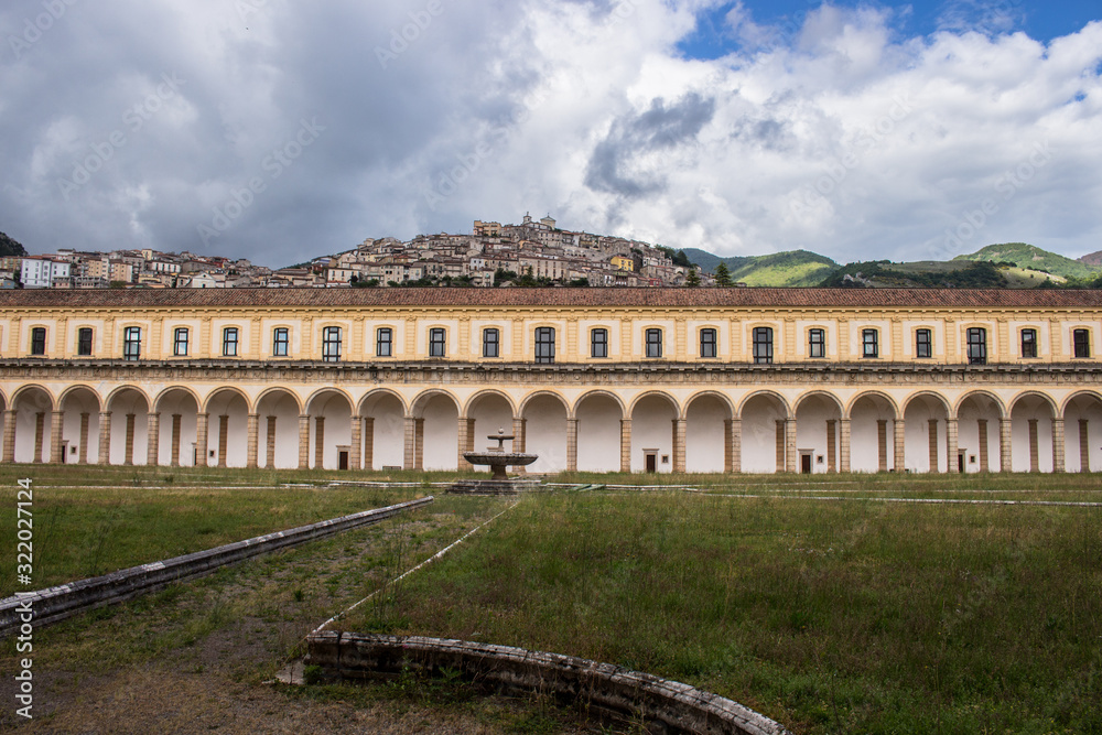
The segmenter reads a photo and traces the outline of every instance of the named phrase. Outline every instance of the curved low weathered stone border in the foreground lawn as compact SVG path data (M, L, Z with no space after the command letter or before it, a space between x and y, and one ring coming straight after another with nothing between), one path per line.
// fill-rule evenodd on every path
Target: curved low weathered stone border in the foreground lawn
M510 693L553 694L613 715L642 717L647 729L663 733L788 735L788 731L745 706L688 684L573 656L529 651L422 636L321 631L306 637L306 663L349 679L390 678L406 670L463 679Z

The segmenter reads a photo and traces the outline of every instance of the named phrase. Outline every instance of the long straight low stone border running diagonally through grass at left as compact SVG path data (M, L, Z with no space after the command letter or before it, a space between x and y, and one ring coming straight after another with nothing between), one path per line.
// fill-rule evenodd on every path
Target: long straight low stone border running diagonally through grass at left
M95 609L114 605L148 592L160 590L173 582L210 574L222 566L234 564L252 556L280 549L296 547L342 531L378 523L392 518L403 510L413 510L434 502L433 496L365 510L363 512L332 518L309 526L300 526L285 531L258 536L245 541L227 543L214 549L175 556L152 564L131 566L102 576L79 580L56 587L47 587L32 593L20 593L0 601L0 638L17 633L21 618L18 608L28 604L34 610L36 626Z

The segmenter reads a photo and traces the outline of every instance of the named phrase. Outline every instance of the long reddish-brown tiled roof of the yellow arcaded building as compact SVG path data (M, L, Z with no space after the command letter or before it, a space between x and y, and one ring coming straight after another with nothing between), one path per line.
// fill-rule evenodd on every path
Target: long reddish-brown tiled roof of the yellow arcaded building
M1012 289L26 289L0 309L652 306L1099 309L1102 290Z

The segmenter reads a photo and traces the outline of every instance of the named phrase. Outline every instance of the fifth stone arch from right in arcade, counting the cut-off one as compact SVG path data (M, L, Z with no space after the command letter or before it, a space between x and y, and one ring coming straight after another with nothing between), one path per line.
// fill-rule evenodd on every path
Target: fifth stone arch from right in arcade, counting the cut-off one
M868 390L845 407L850 420L850 472L904 471L904 422L887 393Z

